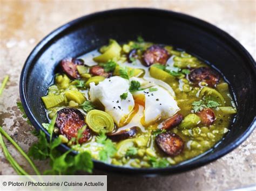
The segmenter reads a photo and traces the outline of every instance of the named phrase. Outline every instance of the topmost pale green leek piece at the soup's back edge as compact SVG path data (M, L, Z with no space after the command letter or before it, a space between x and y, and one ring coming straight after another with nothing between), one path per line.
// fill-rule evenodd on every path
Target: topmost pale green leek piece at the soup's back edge
M107 62L114 58L118 59L118 58L120 58L121 50L122 50L122 48L117 43L117 41L111 39L109 42L109 46L101 49L103 54L93 58L93 60L96 62Z

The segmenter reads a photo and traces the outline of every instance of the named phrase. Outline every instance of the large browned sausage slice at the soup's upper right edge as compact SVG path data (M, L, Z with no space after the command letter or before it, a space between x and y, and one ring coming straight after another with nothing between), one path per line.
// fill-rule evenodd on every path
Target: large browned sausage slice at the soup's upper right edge
M191 82L198 84L199 82L206 82L208 86L215 87L220 81L220 76L217 72L207 67L200 67L192 69L188 75Z

